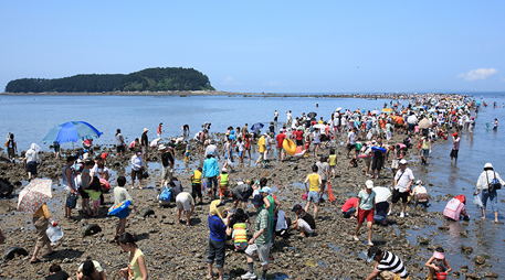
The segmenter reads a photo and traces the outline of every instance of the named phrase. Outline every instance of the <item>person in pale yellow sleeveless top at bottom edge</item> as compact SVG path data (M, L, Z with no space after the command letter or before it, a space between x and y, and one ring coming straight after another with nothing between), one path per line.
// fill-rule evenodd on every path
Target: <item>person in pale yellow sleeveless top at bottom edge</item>
M137 240L137 237L129 233L123 233L117 238L117 243L123 251L129 252L129 265L127 268L120 269L119 274L128 280L147 280L149 274L147 272L146 257L135 244Z

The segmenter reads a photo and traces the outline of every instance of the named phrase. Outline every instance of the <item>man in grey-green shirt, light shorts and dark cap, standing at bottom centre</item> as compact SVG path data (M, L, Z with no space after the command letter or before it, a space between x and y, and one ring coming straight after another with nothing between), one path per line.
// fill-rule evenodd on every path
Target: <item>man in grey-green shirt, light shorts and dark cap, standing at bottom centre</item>
M254 234L249 240L248 249L245 249L249 271L242 276L242 279L256 279L253 258L257 254L261 266L263 267L261 280L266 280L266 271L270 263L270 246L272 243L272 224L269 211L263 207L263 196L261 194L254 196L252 204L256 209L256 219L254 220Z

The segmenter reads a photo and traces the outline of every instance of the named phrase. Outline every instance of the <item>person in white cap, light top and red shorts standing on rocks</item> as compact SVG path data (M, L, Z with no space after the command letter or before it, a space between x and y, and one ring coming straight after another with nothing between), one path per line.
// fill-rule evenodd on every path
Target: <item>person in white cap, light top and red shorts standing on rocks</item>
M374 192L374 181L367 180L365 182L367 186L365 190L359 191L358 193L358 224L356 225L355 230L355 241L359 241L358 233L361 227L365 218L367 219L368 228L368 246L374 246L371 243L371 226L374 225L374 213L376 211L376 192Z

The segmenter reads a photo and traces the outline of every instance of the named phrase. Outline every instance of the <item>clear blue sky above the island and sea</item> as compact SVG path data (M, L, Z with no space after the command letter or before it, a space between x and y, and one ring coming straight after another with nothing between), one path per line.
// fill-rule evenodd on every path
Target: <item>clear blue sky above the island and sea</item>
M0 1L17 78L189 67L238 93L504 91L505 1Z

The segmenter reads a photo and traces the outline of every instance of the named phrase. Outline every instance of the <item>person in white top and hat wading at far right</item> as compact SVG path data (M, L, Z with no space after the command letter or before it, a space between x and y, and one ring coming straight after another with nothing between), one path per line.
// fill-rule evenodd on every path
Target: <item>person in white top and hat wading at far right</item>
M494 179L498 181L499 184L504 185L505 182L499 177L499 174L496 173L493 169L493 164L486 163L484 165L484 171L481 173L477 180L477 192L476 194L481 193L481 201L482 201L482 219L485 219L486 216L486 205L487 198L490 198L491 207L494 212L494 222L498 223L498 194L496 193L496 189L490 190L490 184L493 183Z

